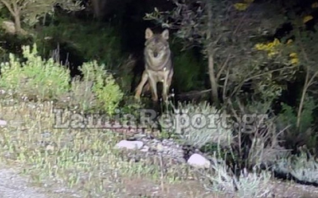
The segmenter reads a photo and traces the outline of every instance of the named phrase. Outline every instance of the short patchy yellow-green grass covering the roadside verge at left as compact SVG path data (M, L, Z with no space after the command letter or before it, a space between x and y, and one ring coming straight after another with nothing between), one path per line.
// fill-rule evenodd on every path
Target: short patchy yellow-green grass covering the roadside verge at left
M123 139L121 134L81 129L76 120L68 126L58 125L52 102L1 104L0 112L2 119L10 120L1 128L1 161L19 164L40 186L54 186L58 181L84 197L118 197L124 193L118 192L124 190L123 178L149 178L169 185L191 175L189 167L169 161L161 165L159 157L115 149ZM64 112L63 117L66 115L72 112ZM138 158L141 160L136 162Z

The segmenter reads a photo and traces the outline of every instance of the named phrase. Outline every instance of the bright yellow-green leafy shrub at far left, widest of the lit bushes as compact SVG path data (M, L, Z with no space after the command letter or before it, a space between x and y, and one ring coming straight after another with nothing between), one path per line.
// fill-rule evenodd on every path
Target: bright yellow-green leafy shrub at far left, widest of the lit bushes
M43 60L37 55L37 46L23 46L23 63L10 53L10 61L1 63L0 86L15 93L37 96L38 99L56 99L69 90L69 71L52 58Z

